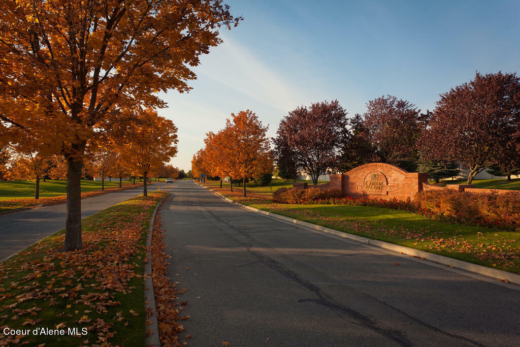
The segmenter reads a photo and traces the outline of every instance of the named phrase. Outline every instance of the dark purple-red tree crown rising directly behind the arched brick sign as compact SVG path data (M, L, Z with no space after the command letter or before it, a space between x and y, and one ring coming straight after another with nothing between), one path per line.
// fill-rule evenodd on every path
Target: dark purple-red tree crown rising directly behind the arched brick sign
M363 126L369 143L385 163L402 165L417 159L417 140L426 115L406 100L387 95L367 102Z

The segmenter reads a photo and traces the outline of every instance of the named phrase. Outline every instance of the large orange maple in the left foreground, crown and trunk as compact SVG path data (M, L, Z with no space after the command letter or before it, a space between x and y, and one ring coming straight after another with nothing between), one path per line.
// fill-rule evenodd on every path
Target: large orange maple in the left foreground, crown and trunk
M192 67L236 26L221 0L0 0L0 135L67 160L64 250L82 247L87 143L187 92ZM128 117L130 116L130 117Z

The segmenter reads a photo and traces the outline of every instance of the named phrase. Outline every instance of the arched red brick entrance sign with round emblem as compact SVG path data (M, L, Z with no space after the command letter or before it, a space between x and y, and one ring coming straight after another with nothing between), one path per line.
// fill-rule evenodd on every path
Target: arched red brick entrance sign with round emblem
M370 163L344 174L331 174L329 188L341 189L348 196L406 199L421 191L427 179L425 173L408 172L386 163Z

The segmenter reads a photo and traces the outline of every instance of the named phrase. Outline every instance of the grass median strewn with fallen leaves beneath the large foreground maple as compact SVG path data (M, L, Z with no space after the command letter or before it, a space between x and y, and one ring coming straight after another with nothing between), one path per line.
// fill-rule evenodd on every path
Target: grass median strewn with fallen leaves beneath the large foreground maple
M84 219L80 250L60 252L62 230L0 264L0 345L145 344L145 242L166 193L148 194ZM6 327L29 333L6 336Z

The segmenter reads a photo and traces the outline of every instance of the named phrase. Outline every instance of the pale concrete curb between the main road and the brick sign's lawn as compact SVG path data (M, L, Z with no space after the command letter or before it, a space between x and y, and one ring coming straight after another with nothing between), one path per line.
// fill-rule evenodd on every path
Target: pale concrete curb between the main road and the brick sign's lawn
M197 182L195 182L195 183L197 183ZM223 196L222 194L216 192L215 190L213 190L211 188L207 188L199 183L197 183L197 184L207 190L214 192L214 194L216 194L220 198L222 198L230 203L239 205L240 207L242 207L246 210L249 210L249 211L261 213L261 214L267 215L269 217L272 217L272 218L275 218L278 220L282 220L285 222L301 225L301 226L304 226L307 228L319 230L320 232L330 233L330 234L333 234L336 236L340 236L344 239L350 239L350 240L354 240L357 242L361 242L362 244L365 244L367 246L372 246L375 248L380 248L380 249L384 249L384 250L391 251L391 252L397 252L399 254L405 254L405 255L408 255L413 258L420 258L422 260L427 260L428 262L433 262L436 265L437 265L437 263L443 264L445 266L448 266L450 268L450 270L452 267L456 267L458 269L462 269L467 272L478 274L480 276L492 278L493 283L504 285L505 287L508 287L511 289L518 290L518 288L516 288L516 287L508 286L507 284L509 282L511 282L512 284L515 284L515 285L520 285L520 275L516 275L516 274L510 273L510 272L506 272L506 271L501 271L501 270L483 266L483 265L477 265L477 264L465 262L465 261L458 260L458 259L449 258L444 255L438 255L438 254L420 251L420 250L405 247L405 246L394 245L394 243L373 240L373 239L369 239L367 237L349 234L349 233L341 232L340 230L335 230L335 229L331 229L331 228L324 227L321 225L300 221L300 220L297 220L297 219L294 219L291 217L282 216L280 214L267 212L267 211L260 210L260 209L257 209L257 208L254 208L254 207L251 207L248 205L244 205L240 202L233 201L229 198L226 198L225 196ZM428 263L428 262L426 262L426 263ZM457 273L461 273L461 272L457 272ZM479 279L483 279L483 278L479 278ZM497 282L497 281L500 281L500 282Z

